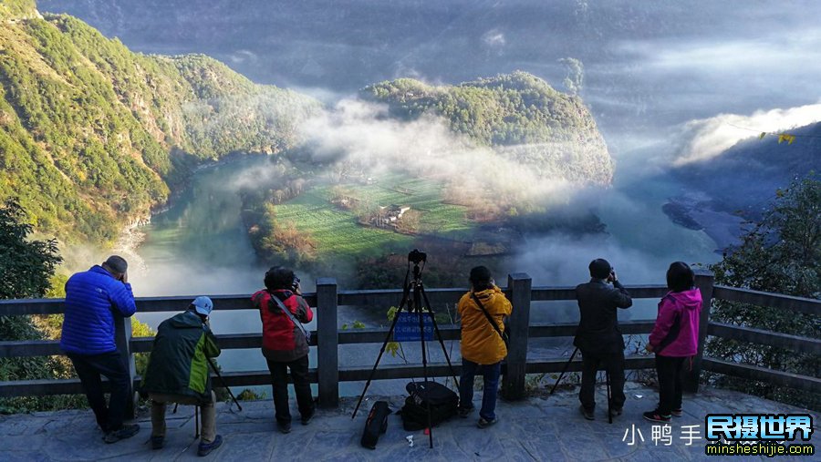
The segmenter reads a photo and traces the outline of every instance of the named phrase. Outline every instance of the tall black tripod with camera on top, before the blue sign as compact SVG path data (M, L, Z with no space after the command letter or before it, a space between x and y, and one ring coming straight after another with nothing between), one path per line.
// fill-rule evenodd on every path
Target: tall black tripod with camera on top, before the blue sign
M413 280L410 280L411 275L411 262L413 263ZM419 263L427 262L427 254L424 252L419 252L419 250L414 249L412 252L408 253L408 272L405 273L405 283L402 287L402 301L400 302L399 308L396 311L396 314L393 316L393 323L390 324L390 330L388 331L388 335L385 336L385 341L382 342L382 348L379 349L379 356L377 356L376 363L373 364L373 369L370 370L370 375L368 377L368 381L365 383L365 388L362 389L362 395L359 395L359 402L357 403L357 407L354 409L353 416L350 418L356 418L357 411L359 411L359 406L362 404L362 399L365 397L365 393L368 391L368 387L370 386L371 380L373 380L373 375L376 374L377 367L379 366L379 361L382 359L382 354L385 353L385 348L388 346L388 342L390 342L390 337L393 335L393 331L396 328L396 323L399 321L400 314L402 313L403 309L407 309L408 313L417 313L419 316L419 332L420 332L420 342L421 342L421 354L422 354L422 374L424 375L425 384L428 383L428 354L427 349L425 346L425 327L424 327L424 314L427 313L428 316L431 318L431 323L433 324L433 333L436 335L436 339L439 340L439 344L442 346L442 353L445 356L445 360L448 362L448 368L451 370L451 375L453 376L453 383L456 384L456 388L459 389L459 382L456 380L456 373L453 371L453 365L451 364L451 357L448 355L448 351L445 348L444 341L442 341L442 334L439 332L439 325L436 324L436 319L433 316L433 310L431 309L431 303L428 301L428 295L425 293L424 284L421 282L421 271L424 268L424 264L422 264L422 268L420 268ZM413 293L413 297L411 298L411 292ZM425 303L422 304L422 299L424 299ZM426 387L427 389L427 387ZM428 402L428 435L430 436L430 445L431 448L433 447L433 430L431 428L431 403Z

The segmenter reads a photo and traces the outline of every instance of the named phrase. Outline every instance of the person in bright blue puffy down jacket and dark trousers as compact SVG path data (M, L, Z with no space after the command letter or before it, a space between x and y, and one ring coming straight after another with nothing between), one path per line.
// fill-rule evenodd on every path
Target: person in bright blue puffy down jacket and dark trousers
M66 282L66 314L60 348L66 352L88 398L88 406L105 432L106 443L115 443L140 431L139 425L123 425L131 393L131 377L114 344L114 316L130 317L137 311L131 293L129 264L118 255L78 272ZM109 406L100 375L111 385Z

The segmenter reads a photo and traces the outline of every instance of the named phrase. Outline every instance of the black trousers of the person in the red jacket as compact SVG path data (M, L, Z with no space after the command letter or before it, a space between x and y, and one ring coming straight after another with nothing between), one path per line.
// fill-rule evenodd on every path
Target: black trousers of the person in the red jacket
M288 369L291 370L291 379L294 380L296 391L296 406L303 417L314 413L314 398L311 395L311 383L307 376L307 354L299 359L285 363L279 361L268 362L271 371L271 385L274 386L274 409L276 421L281 424L291 422L291 411L288 408Z

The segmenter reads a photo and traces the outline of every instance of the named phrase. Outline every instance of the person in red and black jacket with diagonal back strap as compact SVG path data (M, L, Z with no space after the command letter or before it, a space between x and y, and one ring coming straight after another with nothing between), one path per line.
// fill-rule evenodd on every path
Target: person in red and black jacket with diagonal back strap
M296 405L307 425L314 416L314 399L308 381L308 338L302 323L310 323L314 313L299 288L294 272L273 267L265 272L265 289L252 295L263 323L263 355L271 371L276 425L282 433L291 431L288 409L288 369L296 391ZM285 313L283 309L288 310Z

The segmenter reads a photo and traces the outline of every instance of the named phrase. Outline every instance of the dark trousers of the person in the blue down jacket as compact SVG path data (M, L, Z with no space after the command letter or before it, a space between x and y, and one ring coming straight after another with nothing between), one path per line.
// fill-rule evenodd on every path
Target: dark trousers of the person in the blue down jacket
M122 428L122 419L131 394L131 377L120 352L68 354L68 359L74 364L74 370L83 384L88 406L91 406L97 417L97 425L104 432ZM100 375L105 375L111 385L108 406L103 396Z

